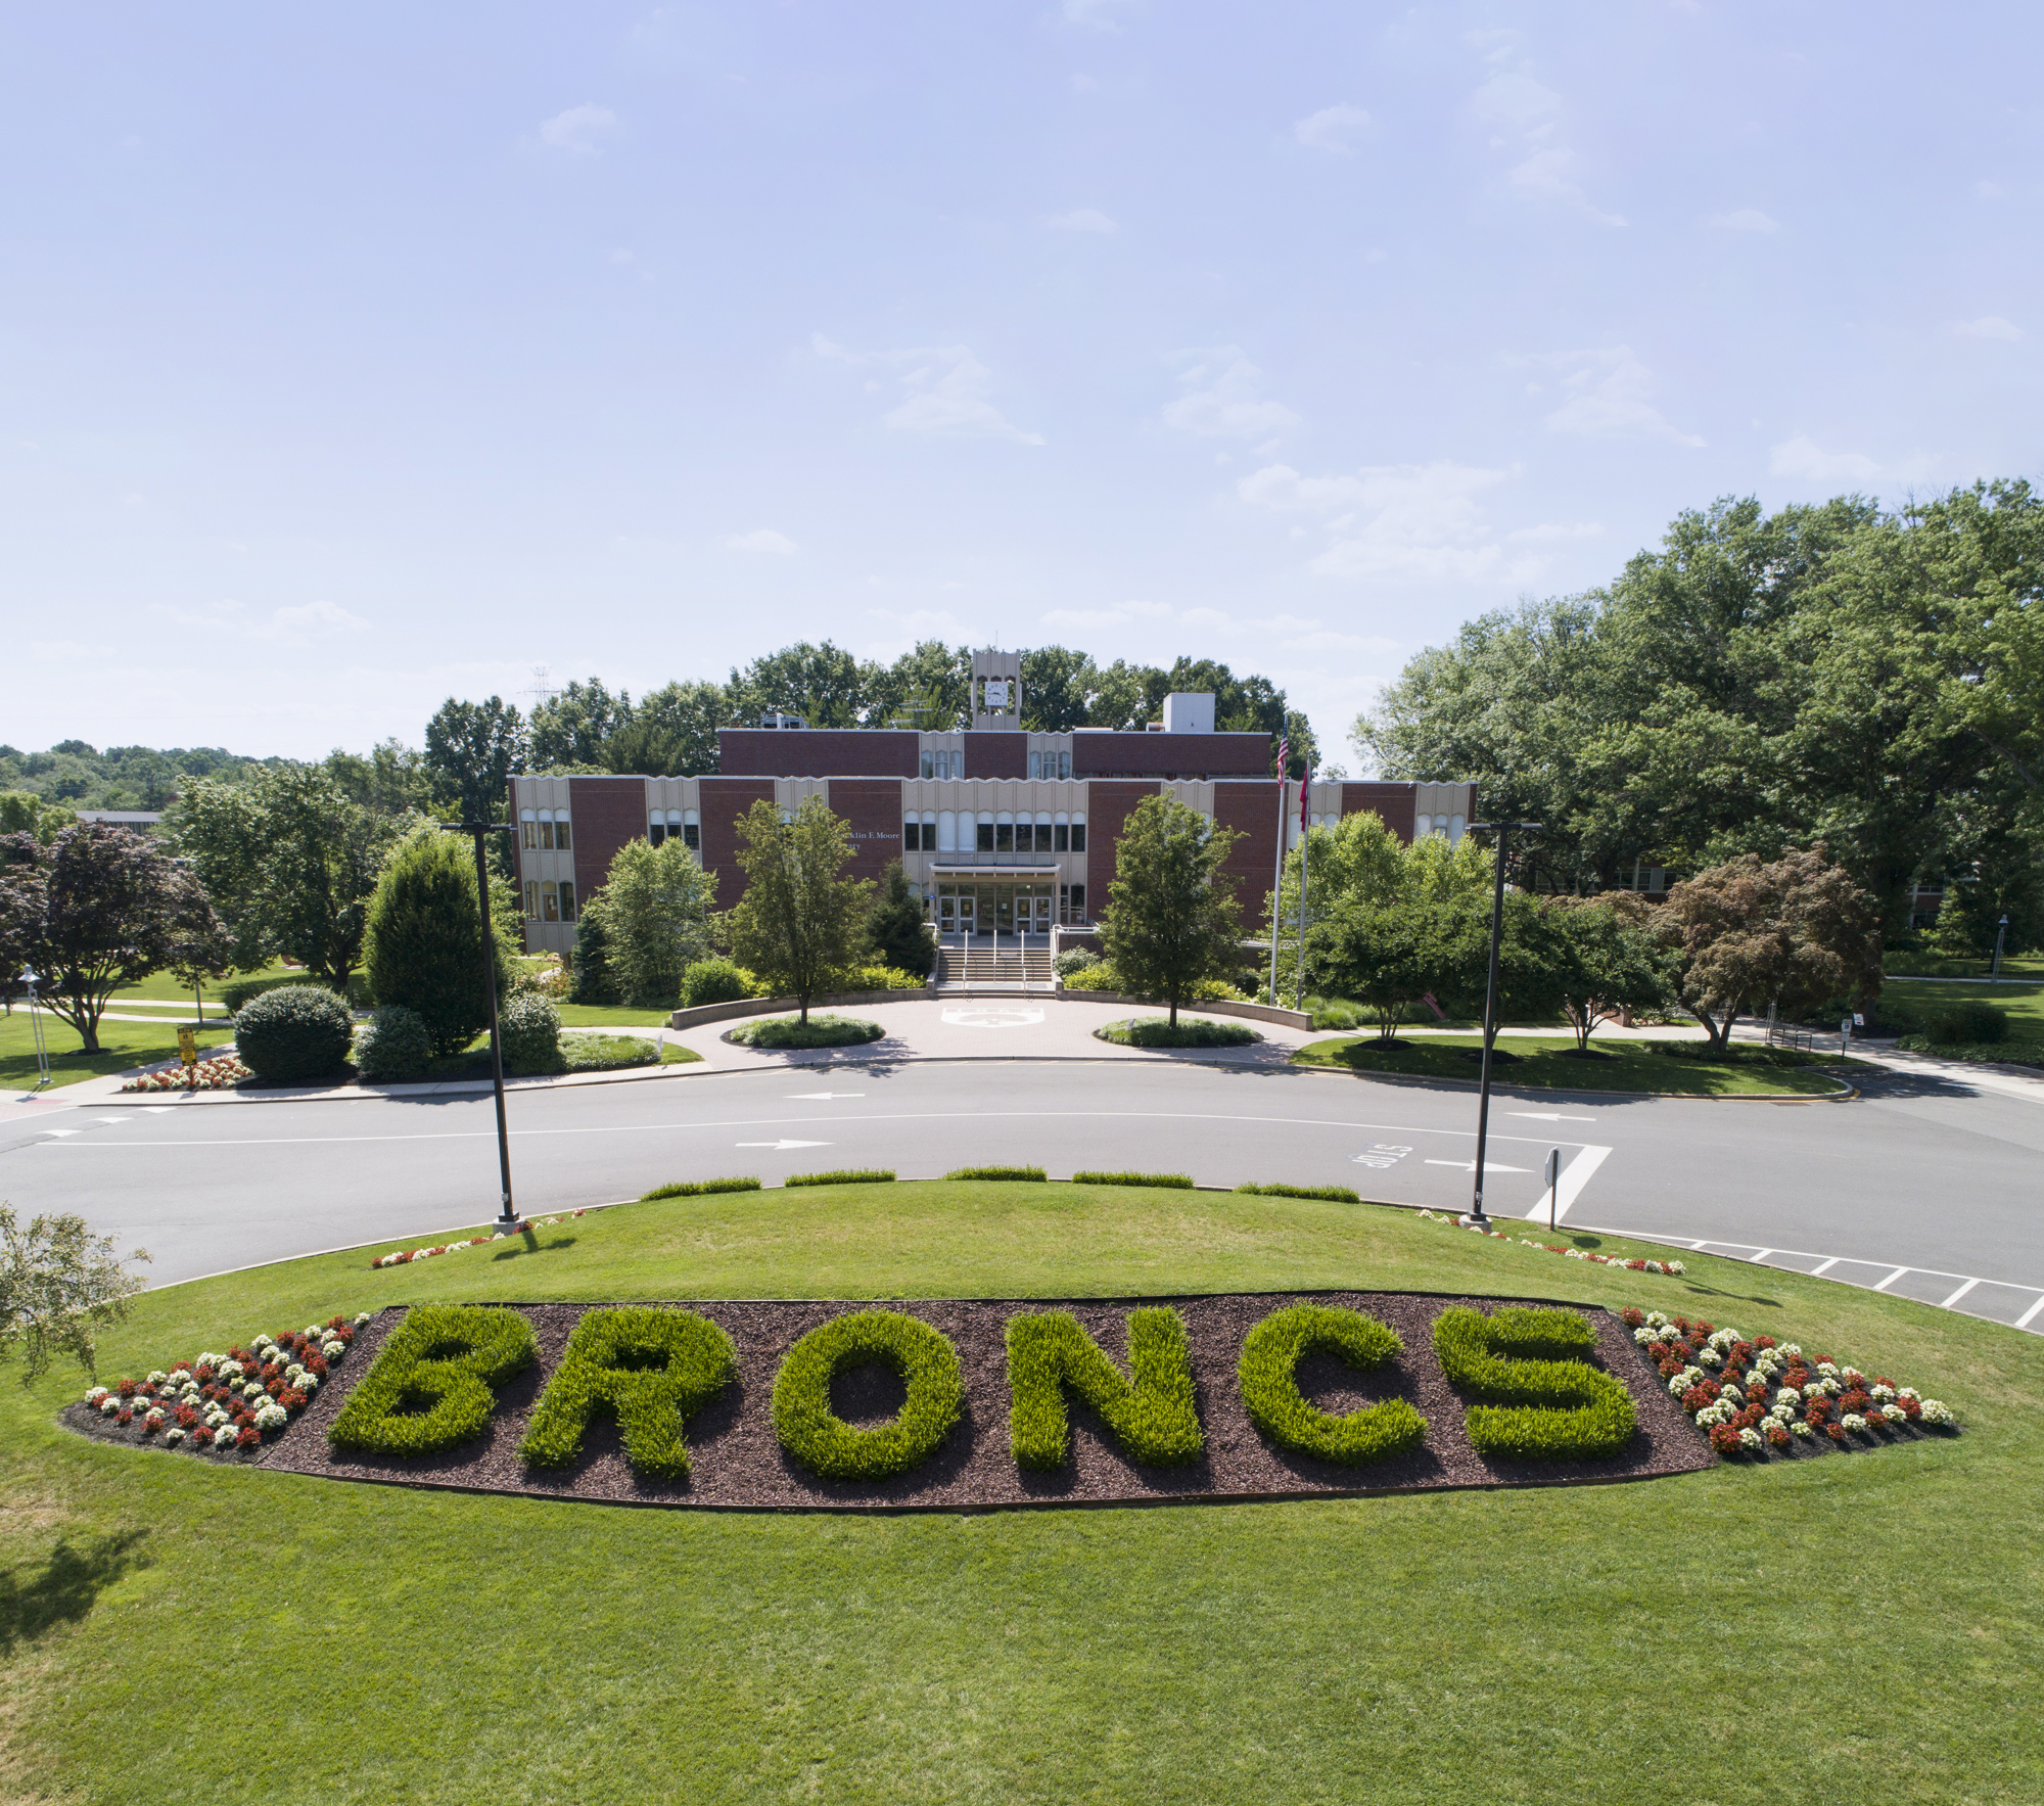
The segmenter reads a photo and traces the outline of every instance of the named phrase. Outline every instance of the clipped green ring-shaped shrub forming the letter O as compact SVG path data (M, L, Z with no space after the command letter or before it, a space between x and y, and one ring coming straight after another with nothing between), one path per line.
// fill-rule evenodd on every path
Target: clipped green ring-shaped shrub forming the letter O
M908 1387L901 1414L856 1430L830 1410L830 1381L881 1363ZM850 1312L787 1350L773 1381L781 1446L824 1479L891 1479L926 1461L965 1410L965 1371L950 1338L905 1312Z

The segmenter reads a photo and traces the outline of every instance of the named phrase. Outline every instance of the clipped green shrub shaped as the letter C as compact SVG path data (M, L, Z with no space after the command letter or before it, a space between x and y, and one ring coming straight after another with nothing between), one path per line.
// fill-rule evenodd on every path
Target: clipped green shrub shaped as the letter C
M1337 1416L1298 1389L1298 1363L1308 1354L1339 1354L1357 1373L1372 1373L1402 1350L1398 1332L1367 1312L1325 1303L1273 1310L1243 1338L1235 1369L1249 1422L1282 1448L1343 1467L1419 1448L1427 1420L1402 1397Z

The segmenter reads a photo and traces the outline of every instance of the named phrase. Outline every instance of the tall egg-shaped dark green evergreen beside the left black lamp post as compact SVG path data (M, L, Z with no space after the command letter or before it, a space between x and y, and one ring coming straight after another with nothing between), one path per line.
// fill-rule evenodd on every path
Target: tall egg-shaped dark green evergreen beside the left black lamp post
M497 1001L503 1003L521 948L503 923L497 936ZM399 844L370 899L366 958L378 1003L415 1009L442 1058L458 1054L491 1024L482 985L482 923L468 836L421 829Z

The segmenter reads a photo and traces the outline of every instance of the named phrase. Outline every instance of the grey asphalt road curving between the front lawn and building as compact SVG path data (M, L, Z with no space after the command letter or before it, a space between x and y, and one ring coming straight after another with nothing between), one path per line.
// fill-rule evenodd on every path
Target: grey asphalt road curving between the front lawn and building
M666 1179L824 1167L901 1177L977 1162L1282 1179L1464 1207L1476 1101L1169 1060L899 1060L689 1075L513 1097L519 1203L636 1197ZM380 1238L497 1207L489 1097L180 1107L129 1103L0 1128L0 1197L78 1209L151 1248L151 1283ZM2017 1322L2044 1299L2044 1107L1885 1075L1856 1103L1498 1093L1490 1207L1541 1207L1562 1150L1572 1226L1709 1240ZM1780 1252L1788 1250L1788 1252ZM1895 1273L1895 1269L1905 1269ZM1950 1277L1942 1277L1950 1275ZM2032 1318L2044 1328L2044 1312Z

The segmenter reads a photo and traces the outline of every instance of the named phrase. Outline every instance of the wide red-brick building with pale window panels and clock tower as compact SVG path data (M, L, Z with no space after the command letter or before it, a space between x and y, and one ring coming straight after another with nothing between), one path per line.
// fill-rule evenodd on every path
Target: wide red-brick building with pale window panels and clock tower
M797 717L726 727L717 776L511 780L519 823L525 946L568 952L580 899L628 840L681 836L717 874L717 907L738 901L738 817L754 801L793 811L822 797L852 831L852 876L899 858L944 938L1042 936L1106 905L1114 844L1159 791L1245 838L1226 864L1245 915L1261 913L1286 844L1298 840L1298 785L1269 776L1263 733L1216 733L1214 699L1165 699L1147 733L1022 731L1020 654L973 654L967 731L816 729ZM1400 840L1461 838L1474 785L1314 782L1308 815L1333 825L1376 811Z

